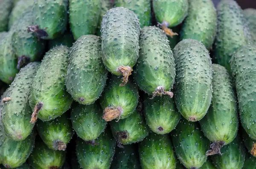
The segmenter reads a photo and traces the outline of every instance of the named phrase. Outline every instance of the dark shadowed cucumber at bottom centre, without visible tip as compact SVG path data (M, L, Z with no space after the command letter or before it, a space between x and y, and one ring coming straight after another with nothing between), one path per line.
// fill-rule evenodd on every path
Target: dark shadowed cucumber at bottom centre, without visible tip
M129 144L124 148L117 146L111 169L141 169L137 145Z

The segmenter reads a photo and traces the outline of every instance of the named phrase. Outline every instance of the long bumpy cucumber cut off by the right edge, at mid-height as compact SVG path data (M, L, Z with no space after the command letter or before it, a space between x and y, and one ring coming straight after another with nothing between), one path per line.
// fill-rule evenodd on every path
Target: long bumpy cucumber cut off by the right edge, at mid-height
M241 47L231 59L236 83L241 125L256 140L256 46Z

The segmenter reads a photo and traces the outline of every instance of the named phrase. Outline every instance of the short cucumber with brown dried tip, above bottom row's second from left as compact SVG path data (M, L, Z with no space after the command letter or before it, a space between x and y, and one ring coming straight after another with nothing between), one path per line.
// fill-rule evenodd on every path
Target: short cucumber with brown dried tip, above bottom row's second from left
M64 113L52 121L38 120L37 130L38 135L50 149L63 151L74 134L68 113Z

